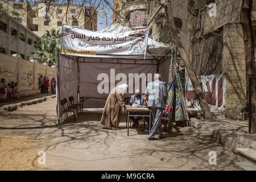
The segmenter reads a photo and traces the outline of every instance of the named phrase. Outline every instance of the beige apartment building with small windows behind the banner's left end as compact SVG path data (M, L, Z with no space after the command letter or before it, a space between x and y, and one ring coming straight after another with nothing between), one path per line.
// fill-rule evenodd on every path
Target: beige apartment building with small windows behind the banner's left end
M40 1L28 7L27 27L39 36L52 28L61 29L63 23L97 31L97 11L94 7L80 6L72 2L69 5L48 6Z

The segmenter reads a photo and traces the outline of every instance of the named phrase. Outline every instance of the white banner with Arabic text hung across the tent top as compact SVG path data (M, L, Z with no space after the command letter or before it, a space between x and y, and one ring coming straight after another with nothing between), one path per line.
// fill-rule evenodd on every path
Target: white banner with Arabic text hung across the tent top
M122 36L63 25L61 54L84 57L144 56L148 29L124 32Z

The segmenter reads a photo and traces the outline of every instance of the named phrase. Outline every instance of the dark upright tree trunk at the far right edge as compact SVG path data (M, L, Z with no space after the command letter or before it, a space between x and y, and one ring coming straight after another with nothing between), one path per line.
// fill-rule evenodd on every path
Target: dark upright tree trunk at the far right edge
M249 105L249 77L255 76L255 57L254 57L254 36L253 26L251 24L251 11L253 8L253 0L243 0L241 11L241 24L243 28L243 42L245 43L245 65L246 65L246 99L247 109ZM252 82L252 88L255 88L255 81ZM256 133L256 96L252 93L251 111L251 128Z

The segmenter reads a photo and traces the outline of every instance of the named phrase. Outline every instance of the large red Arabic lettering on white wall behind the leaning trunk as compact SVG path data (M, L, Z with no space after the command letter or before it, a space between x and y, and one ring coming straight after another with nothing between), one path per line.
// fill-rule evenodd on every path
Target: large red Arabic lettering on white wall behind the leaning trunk
M222 75L210 75L199 76L198 78L210 110L214 111L224 109L224 95L226 91L225 77ZM188 108L195 110L200 109L199 100L189 78L186 78L185 82L185 99Z

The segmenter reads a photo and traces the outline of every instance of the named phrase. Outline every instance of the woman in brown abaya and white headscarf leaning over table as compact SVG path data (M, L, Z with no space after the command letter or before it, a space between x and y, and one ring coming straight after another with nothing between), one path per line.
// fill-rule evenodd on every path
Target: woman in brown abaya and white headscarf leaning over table
M108 129L119 129L119 118L121 107L125 106L125 101L122 96L127 89L126 84L119 85L111 90L105 104L104 111L101 117L101 125Z

